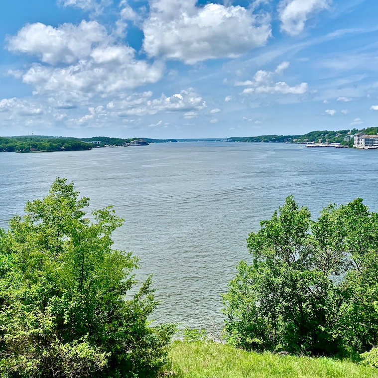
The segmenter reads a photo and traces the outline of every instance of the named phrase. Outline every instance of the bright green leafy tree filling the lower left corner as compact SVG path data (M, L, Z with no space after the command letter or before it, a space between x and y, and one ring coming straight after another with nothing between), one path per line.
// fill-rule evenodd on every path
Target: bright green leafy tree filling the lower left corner
M151 277L134 295L131 253L112 249L123 220L85 218L88 198L57 178L0 231L1 377L136 377L166 359L172 325L148 326Z

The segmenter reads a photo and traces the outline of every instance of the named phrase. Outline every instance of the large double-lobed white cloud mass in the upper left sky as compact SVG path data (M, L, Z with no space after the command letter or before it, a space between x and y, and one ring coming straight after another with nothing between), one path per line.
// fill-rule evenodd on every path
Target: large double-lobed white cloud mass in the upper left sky
M135 50L116 43L97 21L57 28L28 24L8 40L8 49L36 55L22 74L22 81L34 85L35 93L59 94L70 99L107 96L125 89L155 83L163 74L161 63L135 58Z

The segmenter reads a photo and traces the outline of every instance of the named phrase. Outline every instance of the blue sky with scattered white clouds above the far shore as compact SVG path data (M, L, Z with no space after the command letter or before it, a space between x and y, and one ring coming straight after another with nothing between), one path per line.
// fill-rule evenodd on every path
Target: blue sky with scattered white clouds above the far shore
M378 126L377 0L0 2L0 136Z

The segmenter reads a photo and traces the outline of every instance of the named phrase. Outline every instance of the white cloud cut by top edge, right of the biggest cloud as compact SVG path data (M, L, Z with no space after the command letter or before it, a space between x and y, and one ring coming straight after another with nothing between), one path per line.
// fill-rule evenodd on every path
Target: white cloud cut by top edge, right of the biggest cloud
M309 17L328 9L331 0L282 0L278 5L281 30L290 35L300 34Z

